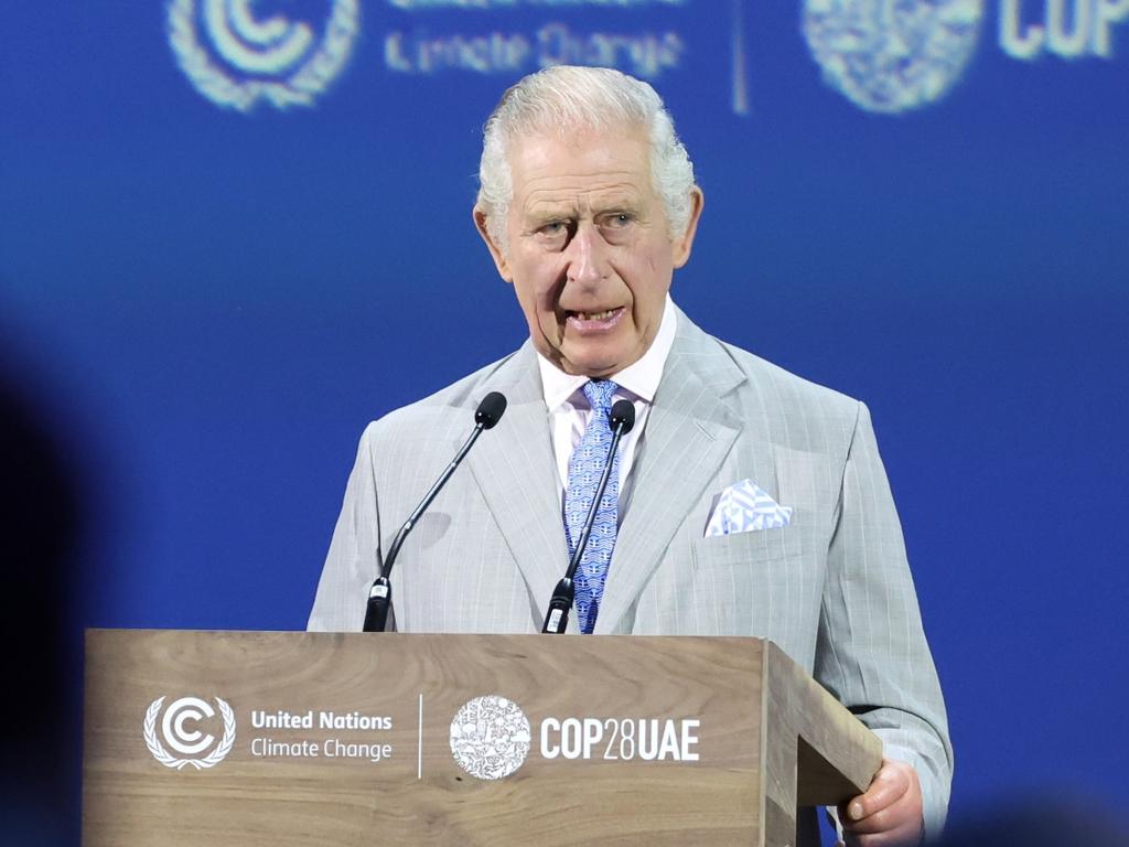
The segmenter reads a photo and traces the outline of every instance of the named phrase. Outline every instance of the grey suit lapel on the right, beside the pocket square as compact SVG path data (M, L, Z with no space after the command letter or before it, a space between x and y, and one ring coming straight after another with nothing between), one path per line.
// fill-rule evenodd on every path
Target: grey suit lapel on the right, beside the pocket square
M744 379L717 340L680 312L679 334L636 454L597 634L616 631L671 538L717 478L742 430L726 395Z

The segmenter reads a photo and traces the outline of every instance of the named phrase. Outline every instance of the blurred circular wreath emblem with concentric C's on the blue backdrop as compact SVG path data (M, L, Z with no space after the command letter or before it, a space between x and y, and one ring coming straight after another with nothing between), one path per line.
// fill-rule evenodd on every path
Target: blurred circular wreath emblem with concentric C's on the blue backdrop
M341 73L359 32L359 0L299 6L329 19L320 34L282 15L260 17L255 0L170 0L168 43L181 70L217 105L248 112L310 106ZM262 3L265 6L266 3Z

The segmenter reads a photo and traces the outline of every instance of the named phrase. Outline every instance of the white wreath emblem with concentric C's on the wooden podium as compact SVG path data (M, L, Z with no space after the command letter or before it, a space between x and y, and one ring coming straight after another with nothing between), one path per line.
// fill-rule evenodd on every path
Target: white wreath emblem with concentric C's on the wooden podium
M207 700L199 697L182 697L164 709L164 697L158 697L146 709L142 722L142 736L152 757L166 768L180 770L191 765L196 770L211 768L231 752L235 743L235 713L220 698L216 698L219 707L219 719L216 709ZM208 732L209 724L222 724L222 734L217 742L216 735ZM215 727L219 730L218 726ZM170 748L170 753L167 748ZM210 751L207 756L201 756ZM180 756L174 756L180 753Z

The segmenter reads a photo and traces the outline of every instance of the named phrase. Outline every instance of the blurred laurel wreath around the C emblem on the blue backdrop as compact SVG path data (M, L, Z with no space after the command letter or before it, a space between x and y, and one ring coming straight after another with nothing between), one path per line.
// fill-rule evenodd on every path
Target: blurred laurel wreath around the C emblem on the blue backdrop
M168 43L181 70L196 90L220 106L251 111L260 99L275 108L310 106L341 72L359 32L358 0L334 0L325 36L317 51L296 72L281 80L243 79L212 62L196 34L195 0L168 5Z

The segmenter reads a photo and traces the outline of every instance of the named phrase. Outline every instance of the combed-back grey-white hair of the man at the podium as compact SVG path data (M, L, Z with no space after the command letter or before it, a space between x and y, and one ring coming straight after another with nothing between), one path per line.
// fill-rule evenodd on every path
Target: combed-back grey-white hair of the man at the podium
M507 248L506 216L514 198L509 145L524 136L559 134L579 126L648 130L651 185L663 200L671 237L683 235L692 209L694 166L662 98L646 82L618 70L561 64L510 87L483 129L478 208L495 243Z

